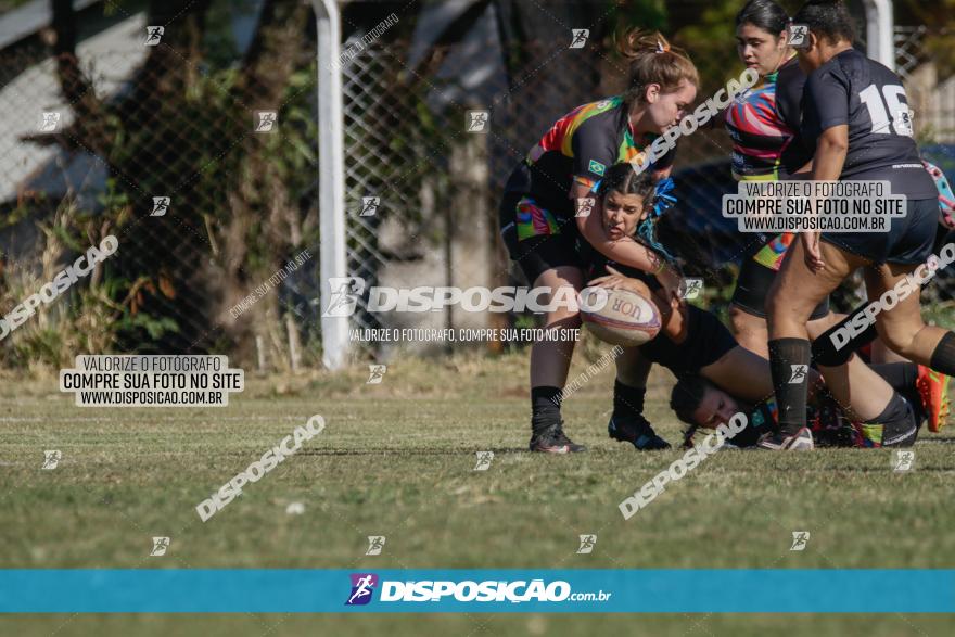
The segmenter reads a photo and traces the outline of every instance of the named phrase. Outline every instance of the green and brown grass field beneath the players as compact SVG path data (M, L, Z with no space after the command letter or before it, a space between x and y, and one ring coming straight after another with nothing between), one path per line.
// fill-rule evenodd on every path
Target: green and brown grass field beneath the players
M575 361L571 378L587 362ZM612 371L565 405L590 447L530 455L525 354L399 359L366 369L247 378L226 408L73 406L55 378L0 382L3 568L955 568L955 434L924 433L916 469L890 453L725 451L624 521L616 508L676 456L607 438ZM671 442L671 377L648 413ZM195 505L314 413L307 443L212 520ZM52 471L43 449L60 449ZM487 471L474 453L493 450ZM286 514L290 502L305 512ZM790 551L792 531L808 531ZM577 535L596 533L591 555ZM154 535L171 537L149 557ZM387 537L366 557L368 535ZM717 594L718 591L714 591ZM851 595L851 591L845 591ZM891 595L892 591L887 591ZM0 619L0 635L951 635L948 616L884 615L91 615Z

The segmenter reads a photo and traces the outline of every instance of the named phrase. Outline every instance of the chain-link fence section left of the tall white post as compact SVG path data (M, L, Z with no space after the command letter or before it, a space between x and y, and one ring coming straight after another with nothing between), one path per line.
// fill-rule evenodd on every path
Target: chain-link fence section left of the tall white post
M212 67L143 46L137 16L117 28L76 58L0 55L0 356L317 364L314 40ZM111 235L118 250L90 268Z

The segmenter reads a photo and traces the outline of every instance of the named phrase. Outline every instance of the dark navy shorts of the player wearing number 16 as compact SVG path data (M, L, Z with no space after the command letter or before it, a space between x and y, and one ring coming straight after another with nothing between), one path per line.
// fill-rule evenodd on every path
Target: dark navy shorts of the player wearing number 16
M892 218L889 232L823 232L822 239L873 265L924 264L935 240L939 200L909 199L905 204L905 216Z

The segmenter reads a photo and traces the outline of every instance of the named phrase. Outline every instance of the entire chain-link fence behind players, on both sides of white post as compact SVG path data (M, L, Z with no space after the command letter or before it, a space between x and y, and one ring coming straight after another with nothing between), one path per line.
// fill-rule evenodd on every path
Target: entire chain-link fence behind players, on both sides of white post
M67 272L68 290L18 310L0 342L5 365L106 351L215 351L262 369L318 365L315 40L288 37L304 23L285 26L284 39L276 26L268 56L219 65L175 42L144 47L143 20L86 46L78 65L39 43L0 53L0 314L29 305L104 237L119 242L90 275ZM932 69L921 46L930 34L897 29L899 69L927 157L955 178L955 84ZM385 37L343 64L352 276L367 286L523 282L498 235L505 180L557 118L615 94L625 76L604 42L569 43L570 33L507 47L463 38L422 53ZM736 68L731 41L711 49L693 55L701 99ZM480 111L486 128L469 130L469 112ZM262 130L269 113L277 124ZM720 214L722 195L736 188L730 148L722 128L700 130L680 141L675 170L672 214L706 257L708 302L717 309L750 239ZM927 303L945 303L953 290L942 278ZM361 307L353 324L384 320L468 328L530 317Z

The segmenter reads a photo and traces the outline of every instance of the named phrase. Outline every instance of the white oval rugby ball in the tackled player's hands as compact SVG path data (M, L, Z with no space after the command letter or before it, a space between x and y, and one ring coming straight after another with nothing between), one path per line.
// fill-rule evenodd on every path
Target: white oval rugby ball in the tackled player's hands
M587 291L585 291L587 293ZM629 290L610 290L607 303L587 307L582 297L581 317L594 335L624 347L637 347L660 333L660 311L649 298Z

